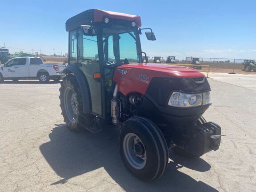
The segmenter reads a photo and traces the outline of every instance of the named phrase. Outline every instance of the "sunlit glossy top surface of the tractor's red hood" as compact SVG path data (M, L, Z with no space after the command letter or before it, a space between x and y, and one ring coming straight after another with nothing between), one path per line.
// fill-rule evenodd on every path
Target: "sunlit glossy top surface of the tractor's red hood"
M124 64L120 68L138 68L140 72L144 70L150 70L154 72L154 77L203 77L204 74L199 72L197 69L188 68L184 66L168 65L168 64L154 64L154 63L143 63L143 64Z

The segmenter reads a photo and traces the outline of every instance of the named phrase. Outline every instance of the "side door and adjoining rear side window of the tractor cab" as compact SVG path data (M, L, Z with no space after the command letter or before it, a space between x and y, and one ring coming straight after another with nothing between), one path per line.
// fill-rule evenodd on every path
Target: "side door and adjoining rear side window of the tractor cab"
M87 36L82 32L81 28L77 29L69 34L69 48L70 64L76 63L77 58L77 62L80 65L79 68L88 81L92 100L92 113L102 117L102 92L97 36L96 34Z

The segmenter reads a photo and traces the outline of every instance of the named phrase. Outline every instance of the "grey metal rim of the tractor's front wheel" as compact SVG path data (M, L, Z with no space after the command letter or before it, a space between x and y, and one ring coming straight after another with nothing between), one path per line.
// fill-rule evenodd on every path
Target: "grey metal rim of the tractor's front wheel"
M128 163L135 169L144 168L147 162L147 154L144 144L134 133L128 133L123 141L124 156Z

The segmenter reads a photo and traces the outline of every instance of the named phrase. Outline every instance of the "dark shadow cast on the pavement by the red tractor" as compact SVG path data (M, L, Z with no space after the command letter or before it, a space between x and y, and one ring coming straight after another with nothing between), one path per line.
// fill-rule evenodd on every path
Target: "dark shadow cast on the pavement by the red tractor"
M124 167L118 150L118 130L106 126L98 134L70 132L65 124L56 125L49 134L50 141L40 146L45 160L62 177L55 184L64 184L68 179L104 167L109 176L125 191L176 191L217 192L208 184L194 180L178 169L187 167L199 172L211 166L204 160L184 159L170 151L170 161L164 175L152 182L143 182L132 176Z

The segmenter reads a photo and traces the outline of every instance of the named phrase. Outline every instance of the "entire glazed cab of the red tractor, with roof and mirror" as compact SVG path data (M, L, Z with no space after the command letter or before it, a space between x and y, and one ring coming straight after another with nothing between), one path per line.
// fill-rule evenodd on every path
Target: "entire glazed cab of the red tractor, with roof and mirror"
M99 9L67 20L68 63L78 66L88 82L93 114L104 118L111 115L114 69L123 64L143 63L140 26L140 16ZM145 34L148 40L156 40L152 30Z

